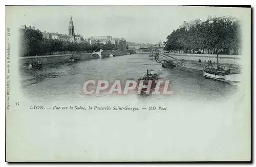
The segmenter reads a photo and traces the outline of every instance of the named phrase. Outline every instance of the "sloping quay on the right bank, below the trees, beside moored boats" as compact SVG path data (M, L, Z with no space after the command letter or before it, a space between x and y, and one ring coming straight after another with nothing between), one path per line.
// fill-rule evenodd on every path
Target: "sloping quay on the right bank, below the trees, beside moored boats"
M164 57L165 59L173 60L174 62L179 61L179 63L176 64L176 66L181 67L181 68L189 68L189 69L203 71L207 67L215 67L215 68L217 67L217 59L214 57L211 57L211 58L216 59L215 60L216 62L214 62L213 60L210 60L212 63L208 63L208 61L205 62L205 61L202 61L201 59L200 59L201 62L199 62L198 57L196 57L196 56L194 56L194 59L191 59L191 58L193 58L193 55L191 57L187 56L186 59L183 59L183 57L180 57L179 55L177 56L177 55L173 55L173 54L160 53L160 55L162 57ZM220 68L223 68L226 70L226 69L230 69L233 67L239 67L238 64L226 63L226 62L229 62L228 61L229 58L228 57L227 57L227 59L224 59L224 58L225 57L223 57L222 63L219 62ZM157 62L161 63L161 61L159 61L159 60Z

